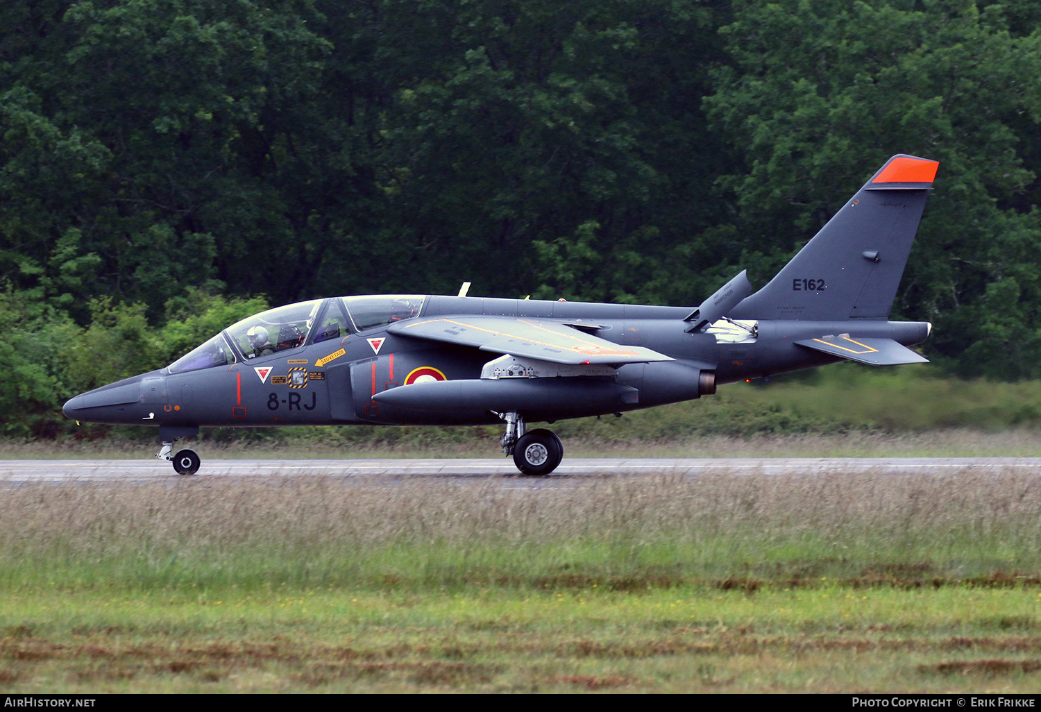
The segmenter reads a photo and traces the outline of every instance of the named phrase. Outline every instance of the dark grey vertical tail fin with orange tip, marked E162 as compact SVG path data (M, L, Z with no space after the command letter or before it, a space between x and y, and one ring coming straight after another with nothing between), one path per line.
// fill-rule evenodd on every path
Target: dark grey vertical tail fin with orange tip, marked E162
M939 163L898 154L735 319L887 319Z

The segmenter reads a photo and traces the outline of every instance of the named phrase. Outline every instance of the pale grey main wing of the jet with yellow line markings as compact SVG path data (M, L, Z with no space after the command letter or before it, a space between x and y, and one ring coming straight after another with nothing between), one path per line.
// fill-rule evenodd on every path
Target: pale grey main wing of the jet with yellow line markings
M436 316L391 324L387 331L497 354L554 363L648 363L672 358L644 347L612 344L566 324L528 316Z

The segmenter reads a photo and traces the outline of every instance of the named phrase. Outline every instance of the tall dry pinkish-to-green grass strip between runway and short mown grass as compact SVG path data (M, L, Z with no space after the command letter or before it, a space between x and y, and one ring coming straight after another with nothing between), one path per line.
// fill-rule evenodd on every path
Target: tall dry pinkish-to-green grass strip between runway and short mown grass
M755 590L820 577L999 586L1041 573L1041 483L1021 471L551 484L283 477L12 487L0 501L0 583L633 590L702 581Z

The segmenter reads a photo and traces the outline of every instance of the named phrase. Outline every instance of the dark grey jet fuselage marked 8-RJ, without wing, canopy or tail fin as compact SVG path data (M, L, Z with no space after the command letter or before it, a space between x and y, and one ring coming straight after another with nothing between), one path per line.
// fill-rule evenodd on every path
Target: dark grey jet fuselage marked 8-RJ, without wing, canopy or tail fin
M325 313L333 301L325 300L318 313ZM699 373L711 374L716 383L730 383L841 360L797 346L801 339L849 333L909 346L923 341L930 329L925 323L884 319L748 320L744 331L691 332L690 323L684 321L690 312L689 307L433 296L423 299L422 311L414 317L486 314L588 323L589 333L602 339L646 347L675 359L624 364L613 376L572 378L567 385L576 386L575 393L581 384L613 381L635 389L638 396L605 402L557 390L526 408L523 415L528 421L691 400L704 392ZM236 348L232 363L187 373L170 373L168 367L142 374L77 396L64 411L76 419L162 426L170 432L181 428L188 432L199 426L480 425L500 421L496 412L480 407L421 410L377 404L376 393L414 382L410 379L416 374L449 381L480 379L482 367L500 355L388 333L388 326L361 329L333 340L307 341L270 355L246 354Z

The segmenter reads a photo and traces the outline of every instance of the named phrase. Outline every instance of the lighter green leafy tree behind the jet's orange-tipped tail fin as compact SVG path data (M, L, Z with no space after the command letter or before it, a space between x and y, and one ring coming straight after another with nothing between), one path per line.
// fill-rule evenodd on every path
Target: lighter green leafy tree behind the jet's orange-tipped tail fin
M937 159L895 311L934 322L926 349L965 373L1025 375L998 365L1012 352L966 349L990 320L1041 326L1041 271L1022 261L1041 246L1023 200L1037 189L1024 149L1041 137L1041 35L972 0L735 0L721 32L732 62L706 106L744 159L720 179L738 207L734 249L769 273L886 157ZM1015 289L989 290L1010 277ZM1032 344L1020 357L1037 362Z

